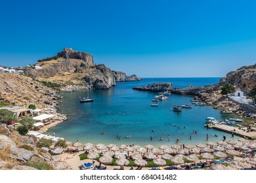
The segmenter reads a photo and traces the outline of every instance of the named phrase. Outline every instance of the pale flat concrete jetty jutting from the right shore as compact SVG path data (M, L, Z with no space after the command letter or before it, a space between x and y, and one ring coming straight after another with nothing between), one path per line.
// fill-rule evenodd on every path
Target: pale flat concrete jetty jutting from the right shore
M238 135L240 137L244 137L246 139L255 140L256 139L256 129L255 131L247 131L247 127L234 127L229 125L215 125L214 129L218 129L221 131L225 131L227 133L234 133L234 135ZM235 130L234 130L235 129Z

